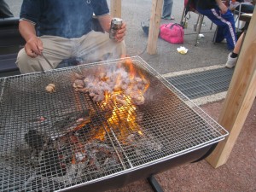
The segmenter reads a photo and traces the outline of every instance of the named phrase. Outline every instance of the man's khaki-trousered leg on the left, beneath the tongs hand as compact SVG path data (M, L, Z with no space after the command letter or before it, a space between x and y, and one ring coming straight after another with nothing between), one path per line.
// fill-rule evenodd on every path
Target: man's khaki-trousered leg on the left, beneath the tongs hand
M72 49L70 39L53 36L43 36L40 39L44 46L44 56L47 57L51 66L44 60L43 56L38 55L36 58L32 58L26 55L25 49L20 49L16 61L20 73L41 72L40 66L43 67L44 71L54 69L63 59L70 57L70 50Z

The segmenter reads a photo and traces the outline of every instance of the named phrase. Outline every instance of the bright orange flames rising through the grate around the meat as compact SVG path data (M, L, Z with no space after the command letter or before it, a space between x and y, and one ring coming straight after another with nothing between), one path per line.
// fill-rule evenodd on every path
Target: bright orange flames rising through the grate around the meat
M123 88L122 81L124 79L122 74L119 73L117 74L114 82L113 92L104 92L105 98L104 101L100 103L100 106L102 108L110 109L111 113L106 115L107 121L103 122L102 125L91 127L90 141L104 141L107 132L110 131L110 128L113 129L116 137L123 144L128 143L127 137L133 133L143 136L143 130L137 123L137 106L134 104L134 98L129 94L129 91L131 90L131 93L136 93L137 97L143 96L148 90L149 81L142 72L135 69L131 59L126 59L122 65L119 65L119 67L124 67L124 65L126 70L129 71L128 78L130 80L130 84L127 84L127 87ZM104 73L101 74L101 72L99 72L99 77L101 77L102 81L108 80L108 78L104 77ZM134 89L135 86L138 86L136 81L137 79L143 81L143 88ZM73 162L75 162L75 156L73 158Z

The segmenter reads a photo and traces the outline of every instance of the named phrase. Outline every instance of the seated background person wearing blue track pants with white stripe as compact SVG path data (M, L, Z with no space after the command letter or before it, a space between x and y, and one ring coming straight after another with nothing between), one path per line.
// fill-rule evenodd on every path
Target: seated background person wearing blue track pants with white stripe
M221 0L195 0L195 8L218 26L216 42L220 43L225 38L228 49L234 49L237 40L235 20L224 3Z

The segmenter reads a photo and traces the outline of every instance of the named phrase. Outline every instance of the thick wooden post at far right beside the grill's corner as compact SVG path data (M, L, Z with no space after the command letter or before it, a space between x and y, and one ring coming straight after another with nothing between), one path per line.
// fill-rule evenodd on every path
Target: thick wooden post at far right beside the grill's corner
M250 21L218 123L230 132L207 158L215 168L228 160L256 96L256 11ZM242 151L241 151L242 153ZM253 153L253 152L252 152Z

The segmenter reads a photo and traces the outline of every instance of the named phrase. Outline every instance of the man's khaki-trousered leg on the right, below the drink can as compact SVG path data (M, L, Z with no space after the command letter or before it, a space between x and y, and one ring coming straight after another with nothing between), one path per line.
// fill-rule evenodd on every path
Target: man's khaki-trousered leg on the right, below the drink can
M79 38L73 55L82 58L85 62L119 59L125 55L125 42L118 43L110 39L108 33L92 31Z

